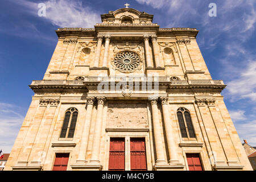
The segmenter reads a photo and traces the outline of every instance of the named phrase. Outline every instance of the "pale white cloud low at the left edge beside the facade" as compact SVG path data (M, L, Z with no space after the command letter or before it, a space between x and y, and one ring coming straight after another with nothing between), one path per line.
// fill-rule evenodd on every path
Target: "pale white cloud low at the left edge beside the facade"
M23 115L19 114L21 108L15 105L0 102L0 149L9 153L18 135L23 122Z

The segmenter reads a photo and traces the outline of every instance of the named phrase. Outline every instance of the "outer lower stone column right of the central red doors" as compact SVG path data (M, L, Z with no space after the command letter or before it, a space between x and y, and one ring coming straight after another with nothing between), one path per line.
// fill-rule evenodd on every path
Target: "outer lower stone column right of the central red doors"
M179 160L177 159L177 150L174 142L174 131L172 130L172 123L170 121L170 115L168 111L168 98L160 97L160 101L163 109L164 129L166 130L169 163L179 163Z

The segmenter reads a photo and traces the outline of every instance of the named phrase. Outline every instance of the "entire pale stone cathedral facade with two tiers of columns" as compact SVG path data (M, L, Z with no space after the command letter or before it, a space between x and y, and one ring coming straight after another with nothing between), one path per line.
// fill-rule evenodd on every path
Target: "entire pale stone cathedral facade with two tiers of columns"
M131 8L58 28L5 170L251 170L196 42Z

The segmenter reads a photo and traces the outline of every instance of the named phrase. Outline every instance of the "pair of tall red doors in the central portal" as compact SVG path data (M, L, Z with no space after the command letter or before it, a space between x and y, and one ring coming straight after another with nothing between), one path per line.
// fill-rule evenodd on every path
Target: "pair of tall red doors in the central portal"
M143 138L130 140L131 170L146 171L146 148ZM125 138L111 138L109 151L109 170L125 170Z

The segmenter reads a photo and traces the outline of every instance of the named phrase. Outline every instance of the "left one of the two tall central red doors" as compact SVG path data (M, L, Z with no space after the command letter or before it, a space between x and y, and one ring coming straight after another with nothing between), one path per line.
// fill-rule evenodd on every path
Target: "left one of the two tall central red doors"
M110 138L109 171L125 171L125 138Z

